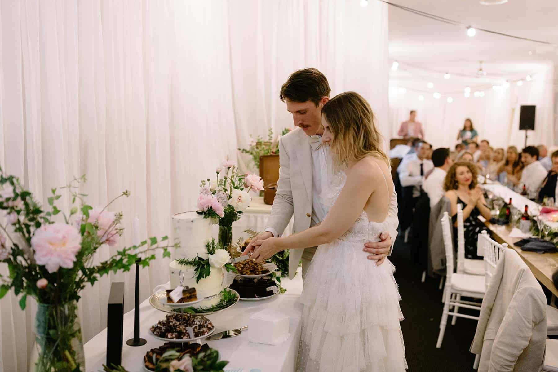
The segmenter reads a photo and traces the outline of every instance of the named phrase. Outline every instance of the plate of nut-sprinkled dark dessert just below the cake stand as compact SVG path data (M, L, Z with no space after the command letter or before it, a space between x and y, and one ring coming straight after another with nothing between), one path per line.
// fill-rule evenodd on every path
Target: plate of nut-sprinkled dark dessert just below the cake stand
M215 332L211 321L190 313L169 314L149 328L151 336L161 341L189 342L203 339Z

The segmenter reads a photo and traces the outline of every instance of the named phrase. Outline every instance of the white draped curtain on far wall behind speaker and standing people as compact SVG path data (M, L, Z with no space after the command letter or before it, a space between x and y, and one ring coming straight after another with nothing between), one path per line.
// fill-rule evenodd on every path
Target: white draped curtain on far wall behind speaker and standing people
M426 141L436 147L451 147L456 144L459 129L463 128L465 118L473 121L480 139L488 139L490 146L525 147L525 131L519 131L519 110L521 105L536 105L535 131L528 132L528 145L545 144L554 147L558 144L554 128L553 81L554 66L542 64L533 74L532 81L523 85L511 84L507 89L485 91L484 97L468 98L463 93L440 99L431 93L412 90L403 91L396 79L390 80L389 123L393 137L401 122L408 120L410 110L417 110L417 120L422 123ZM401 85L401 86L398 86ZM424 100L419 100L419 96Z

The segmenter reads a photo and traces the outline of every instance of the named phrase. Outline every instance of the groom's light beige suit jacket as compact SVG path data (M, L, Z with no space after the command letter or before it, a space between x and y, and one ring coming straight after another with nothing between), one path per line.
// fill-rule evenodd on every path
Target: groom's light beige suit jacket
M278 234L285 231L291 216L295 223L292 233L299 233L310 227L312 219L312 153L309 137L304 131L296 128L279 139L279 181L271 217L267 226L275 229ZM388 233L393 242L397 236L397 194L393 191L389 204L387 220ZM304 249L290 249L288 277L293 278L299 266ZM363 259L365 253L363 252Z

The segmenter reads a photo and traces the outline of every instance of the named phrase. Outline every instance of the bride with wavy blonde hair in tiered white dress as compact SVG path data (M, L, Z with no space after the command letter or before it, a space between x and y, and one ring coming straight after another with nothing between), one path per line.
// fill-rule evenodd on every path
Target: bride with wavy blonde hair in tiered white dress
M341 93L322 109L330 147L322 187L328 215L320 225L256 241L258 262L285 249L319 245L304 282L299 371L403 371L399 293L389 260L363 259L363 244L386 229L393 182L369 104Z

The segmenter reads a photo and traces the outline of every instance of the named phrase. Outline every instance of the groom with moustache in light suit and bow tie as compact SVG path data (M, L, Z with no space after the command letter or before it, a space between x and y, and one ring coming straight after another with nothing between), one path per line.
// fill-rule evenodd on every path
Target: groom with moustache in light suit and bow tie
M294 131L279 139L279 181L268 228L252 241L265 240L280 236L291 216L295 215L292 233L298 233L319 224L326 215L320 202L321 175L324 170L326 152L320 147L320 138L324 133L321 125L321 108L329 100L328 79L320 71L310 68L297 70L288 77L281 87L280 98L287 104L287 111L292 114ZM367 243L363 251L371 253L363 259L377 260L381 265L393 247L397 235L397 195L393 192L389 207L388 220L391 229L382 234L382 241ZM291 249L288 263L288 276L293 278L302 259L302 279L317 247ZM249 244L245 252L252 250Z

